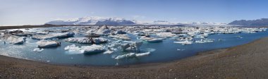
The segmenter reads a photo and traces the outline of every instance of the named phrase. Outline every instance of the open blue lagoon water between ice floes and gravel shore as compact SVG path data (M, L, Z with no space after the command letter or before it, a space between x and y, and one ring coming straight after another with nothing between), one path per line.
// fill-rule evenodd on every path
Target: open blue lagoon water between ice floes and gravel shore
M59 29L59 28L33 28L29 31L44 30L44 29ZM133 37L133 40L135 40L136 37L134 35L130 36ZM243 38L240 38L238 36ZM59 41L61 42L60 47L44 49L44 51L42 52L37 52L33 51L33 49L37 47L36 42L38 40L30 39L28 37L26 39L26 43L21 45L4 44L4 42L0 42L0 54L20 59L30 59L49 63L60 63L60 64L71 64L71 65L79 64L79 65L94 65L94 66L114 66L116 64L127 65L135 63L150 63L150 62L162 62L162 61L183 59L188 56L193 56L200 51L233 47L240 44L252 42L255 39L267 36L268 36L267 31L252 34L245 34L245 33L216 34L216 35L209 35L208 37L209 39L215 39L214 42L203 43L203 44L194 43L188 45L173 43L176 40L172 38L164 39L163 42L159 43L144 42L144 44L142 44L141 50L143 52L152 51L150 55L131 57L120 60L116 60L114 59L114 57L121 54L127 54L129 52L117 51L112 54L94 54L94 55L73 54L71 52L65 51L64 47L71 44L75 44L76 46L86 46L90 44L64 42L62 39L59 39ZM75 35L75 37L83 37L83 35ZM221 39L221 41L218 41L218 39ZM114 41L115 39L111 40ZM109 43L110 42L106 44Z

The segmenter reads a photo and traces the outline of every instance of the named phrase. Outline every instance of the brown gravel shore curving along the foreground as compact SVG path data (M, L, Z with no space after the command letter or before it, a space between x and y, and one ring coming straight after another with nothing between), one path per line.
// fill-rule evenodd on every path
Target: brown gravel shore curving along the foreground
M131 66L60 66L0 56L0 78L268 78L268 37L178 61Z

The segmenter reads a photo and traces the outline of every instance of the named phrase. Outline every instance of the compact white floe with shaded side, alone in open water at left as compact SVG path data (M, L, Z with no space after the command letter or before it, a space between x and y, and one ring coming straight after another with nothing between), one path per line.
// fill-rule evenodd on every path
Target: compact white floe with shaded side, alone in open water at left
M37 42L37 45L39 48L47 48L47 47L58 47L61 44L60 42L56 42L56 41L41 40Z

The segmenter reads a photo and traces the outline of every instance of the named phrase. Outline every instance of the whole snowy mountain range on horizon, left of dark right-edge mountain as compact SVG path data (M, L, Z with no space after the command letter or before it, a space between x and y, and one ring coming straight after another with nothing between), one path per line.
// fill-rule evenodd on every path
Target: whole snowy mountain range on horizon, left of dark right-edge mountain
M226 23L170 23L166 20L156 20L153 22L140 22L136 20L126 20L124 18L103 18L97 16L52 20L45 24L52 25L226 25Z

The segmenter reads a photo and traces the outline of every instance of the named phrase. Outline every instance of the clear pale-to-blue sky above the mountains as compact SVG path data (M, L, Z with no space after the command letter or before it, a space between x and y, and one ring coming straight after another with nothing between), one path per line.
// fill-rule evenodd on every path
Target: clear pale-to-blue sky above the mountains
M85 16L230 23L268 18L267 4L267 0L0 0L0 25L42 25Z

